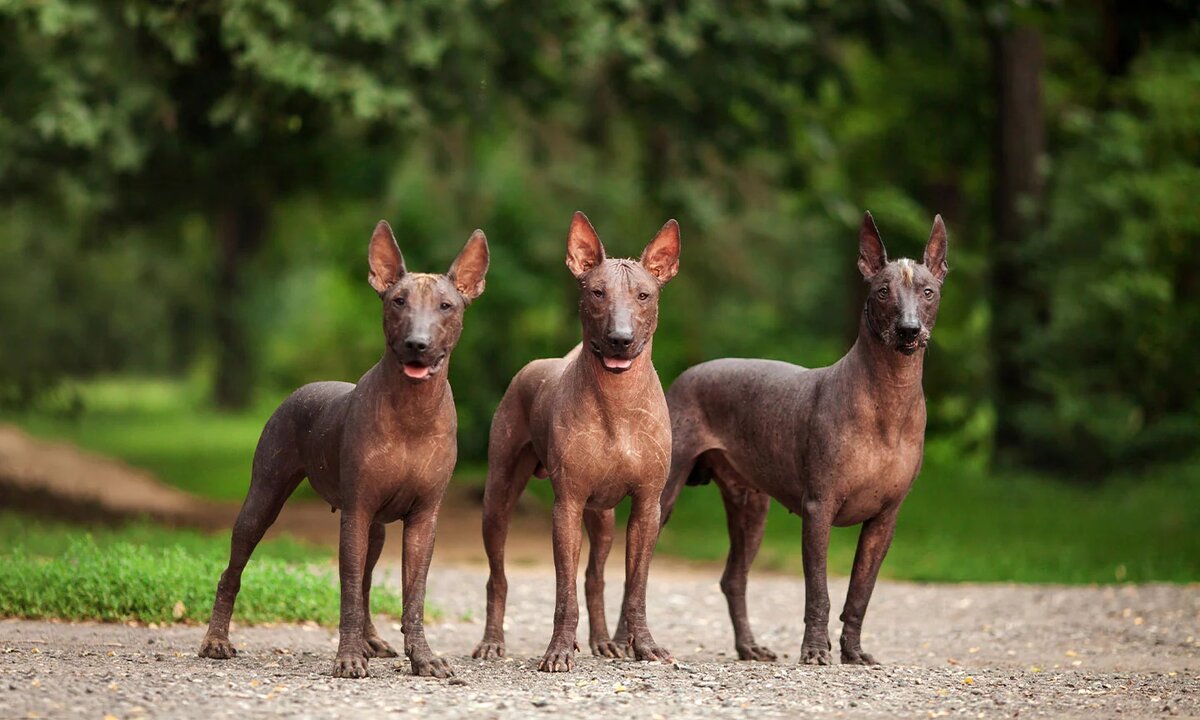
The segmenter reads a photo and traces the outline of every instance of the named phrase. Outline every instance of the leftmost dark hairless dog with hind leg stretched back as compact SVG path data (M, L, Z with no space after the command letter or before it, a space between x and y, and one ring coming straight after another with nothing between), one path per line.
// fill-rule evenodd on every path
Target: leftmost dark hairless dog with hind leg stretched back
M458 455L454 396L446 379L463 312L484 292L487 239L475 233L445 275L408 272L388 223L368 250L371 287L383 300L386 348L356 385L312 383L293 392L263 428L250 492L233 529L229 566L221 575L204 658L227 659L229 617L241 571L306 476L342 511L338 566L341 642L334 674L367 676L367 658L396 650L371 622L371 571L383 550L384 523L404 521L404 654L413 674L439 678L450 665L425 640L425 580L433 553L438 509Z

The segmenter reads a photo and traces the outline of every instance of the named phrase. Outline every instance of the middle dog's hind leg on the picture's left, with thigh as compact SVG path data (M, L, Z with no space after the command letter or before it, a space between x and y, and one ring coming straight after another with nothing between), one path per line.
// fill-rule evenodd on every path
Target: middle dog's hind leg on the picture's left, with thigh
M487 551L487 619L484 640L473 658L504 656L504 606L509 581L504 575L504 544L517 499L538 467L528 440L527 424L515 400L505 395L492 420L487 446L487 485L484 488L484 550Z

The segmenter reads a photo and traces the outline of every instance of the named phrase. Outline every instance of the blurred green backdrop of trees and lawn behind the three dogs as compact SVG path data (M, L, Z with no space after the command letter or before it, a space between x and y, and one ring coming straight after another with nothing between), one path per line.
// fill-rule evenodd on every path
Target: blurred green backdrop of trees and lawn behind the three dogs
M1194 2L8 0L0 48L0 416L29 432L238 500L280 400L380 355L374 222L438 271L480 227L451 373L478 484L509 379L577 342L572 211L618 256L679 220L667 384L836 360L863 211L917 258L940 212L884 574L1200 578ZM725 552L709 491L664 552Z

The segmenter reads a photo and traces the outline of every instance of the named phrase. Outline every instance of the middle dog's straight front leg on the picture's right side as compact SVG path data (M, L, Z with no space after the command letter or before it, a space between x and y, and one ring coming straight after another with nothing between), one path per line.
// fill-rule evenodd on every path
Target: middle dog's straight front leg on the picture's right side
M659 498L634 496L625 540L625 601L622 614L629 632L629 646L638 660L671 662L671 653L659 647L650 636L646 620L646 584L650 574L650 558L659 539Z

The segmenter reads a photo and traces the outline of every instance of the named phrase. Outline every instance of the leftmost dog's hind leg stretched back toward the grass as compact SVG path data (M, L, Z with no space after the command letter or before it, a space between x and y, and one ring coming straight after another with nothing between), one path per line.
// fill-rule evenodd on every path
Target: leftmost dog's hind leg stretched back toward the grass
M241 589L241 572L250 562L250 556L254 547L263 539L266 528L280 516L283 503L287 502L295 491L300 481L304 480L304 469L294 448L286 446L282 452L275 452L274 448L280 448L268 436L263 433L254 451L254 464L251 473L250 491L246 493L246 502L238 512L238 521L233 526L233 539L229 542L229 565L221 574L221 582L217 583L216 600L212 602L212 618L209 620L209 630L200 643L200 656L226 660L238 654L233 643L229 642L229 619L233 617L234 601L238 599L238 590ZM268 457L270 455L270 457Z

